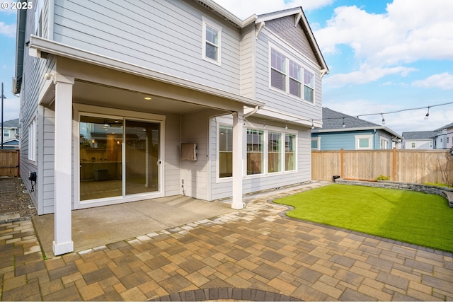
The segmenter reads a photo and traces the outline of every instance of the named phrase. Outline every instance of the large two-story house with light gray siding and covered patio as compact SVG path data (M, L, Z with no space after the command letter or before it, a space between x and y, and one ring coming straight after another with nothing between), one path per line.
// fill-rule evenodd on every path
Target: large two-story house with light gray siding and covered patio
M21 175L55 213L185 194L205 200L311 180L328 72L302 8L242 21L211 0L33 1L18 11Z

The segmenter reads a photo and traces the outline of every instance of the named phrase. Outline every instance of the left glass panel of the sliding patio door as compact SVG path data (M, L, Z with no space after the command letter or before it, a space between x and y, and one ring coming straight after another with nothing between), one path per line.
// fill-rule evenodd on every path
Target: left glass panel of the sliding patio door
M80 200L122 196L122 120L80 117Z

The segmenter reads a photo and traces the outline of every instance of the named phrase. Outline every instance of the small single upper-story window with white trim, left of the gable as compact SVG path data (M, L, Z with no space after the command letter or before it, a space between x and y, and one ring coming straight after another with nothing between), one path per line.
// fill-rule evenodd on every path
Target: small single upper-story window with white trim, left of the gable
M207 18L203 20L202 58L214 64L220 64L222 27Z

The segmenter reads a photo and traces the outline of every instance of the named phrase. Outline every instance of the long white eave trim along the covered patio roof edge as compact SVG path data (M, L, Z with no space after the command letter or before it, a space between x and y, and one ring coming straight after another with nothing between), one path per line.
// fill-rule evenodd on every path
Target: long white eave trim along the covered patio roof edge
M247 107L255 108L256 106L262 107L265 105L265 103L260 102L259 100L246 98L242 95L237 95L235 93L223 91L221 89L206 86L201 83L181 79L176 76L164 74L159 71L147 69L142 66L130 64L128 62L124 62L118 59L105 57L94 52L81 50L76 47L64 45L62 43L47 40L42 37L37 37L35 35L30 36L30 42L28 42L28 47L30 48L30 55L33 55L35 57L40 57L41 52L46 52L49 54L55 54L59 57L67 57L69 59L74 59L76 61L86 62L97 66L103 66L108 69L126 72L127 74L134 74L136 76L142 76L147 79L153 79L156 81L169 83L183 88L192 89L194 91L200 91L202 93L216 95L221 98L226 98L229 100L234 100L236 102L242 103Z

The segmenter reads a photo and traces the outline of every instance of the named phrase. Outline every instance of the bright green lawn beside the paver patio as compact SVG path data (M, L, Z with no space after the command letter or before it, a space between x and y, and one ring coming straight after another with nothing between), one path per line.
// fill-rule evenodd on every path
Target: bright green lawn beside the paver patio
M453 252L453 209L438 195L327 185L274 202L293 218Z

